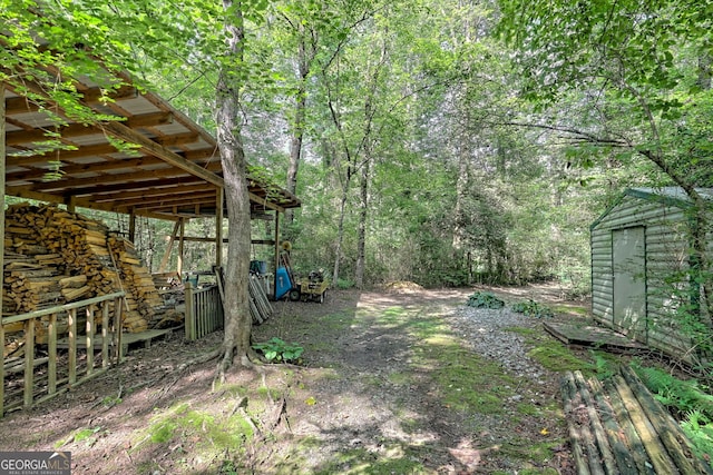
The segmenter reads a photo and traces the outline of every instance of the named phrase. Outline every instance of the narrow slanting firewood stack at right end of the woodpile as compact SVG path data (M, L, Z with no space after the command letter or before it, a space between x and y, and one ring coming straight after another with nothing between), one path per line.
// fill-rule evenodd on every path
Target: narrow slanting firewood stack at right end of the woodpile
M156 308L163 306L164 300L134 245L116 235L110 235L107 244L126 293L128 314L124 316L124 327L129 331L144 331L153 327L158 317Z

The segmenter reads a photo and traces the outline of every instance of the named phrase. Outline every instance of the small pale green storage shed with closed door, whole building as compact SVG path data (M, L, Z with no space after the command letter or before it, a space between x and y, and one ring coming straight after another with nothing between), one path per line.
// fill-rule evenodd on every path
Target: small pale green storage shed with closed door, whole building
M699 192L713 204L713 189ZM700 355L691 328L702 320L681 311L699 291L687 273L691 211L681 188L631 188L594 221L592 314L649 348L694 363Z

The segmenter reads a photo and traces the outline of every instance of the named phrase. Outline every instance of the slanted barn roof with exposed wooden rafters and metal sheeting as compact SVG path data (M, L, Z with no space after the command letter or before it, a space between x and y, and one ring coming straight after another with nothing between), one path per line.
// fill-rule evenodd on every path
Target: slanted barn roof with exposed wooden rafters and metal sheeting
M52 109L68 122L57 127L42 108L51 103L40 106L6 85L6 194L164 219L215 216L223 172L214 137L157 95L117 77L129 86L111 93L110 102L99 100L101 91L90 81L76 82L85 106L120 119L92 126ZM47 131L58 132L67 149L43 152ZM119 151L115 139L138 148ZM59 174L50 180L57 164ZM301 205L286 190L257 180L250 192L255 212Z

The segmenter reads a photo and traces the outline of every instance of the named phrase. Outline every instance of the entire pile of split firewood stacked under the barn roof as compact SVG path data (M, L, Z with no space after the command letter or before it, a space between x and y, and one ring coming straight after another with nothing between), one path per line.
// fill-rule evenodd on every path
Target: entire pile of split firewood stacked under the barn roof
M125 329L143 331L163 318L156 310L163 300L133 245L99 221L56 206L13 205L6 211L4 247L2 315L124 290ZM38 323L38 343L46 339L43 327ZM6 339L21 330L4 329Z

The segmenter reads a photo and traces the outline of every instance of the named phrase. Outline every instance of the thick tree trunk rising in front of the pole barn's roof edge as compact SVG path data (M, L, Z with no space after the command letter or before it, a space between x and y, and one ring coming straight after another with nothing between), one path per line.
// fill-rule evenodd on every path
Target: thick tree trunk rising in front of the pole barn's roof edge
M224 378L225 370L233 365L234 357L243 365L250 365L250 338L252 317L247 291L250 274L250 196L246 179L245 151L241 137L240 85L235 83L242 67L244 51L244 29L242 4L224 0L226 19L225 33L228 38L228 52L232 65L224 66L216 90L217 144L225 179L225 198L228 217L228 245L225 273L225 335L223 338L222 362L218 375Z

